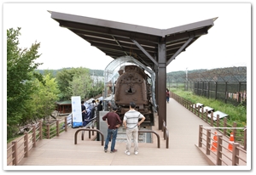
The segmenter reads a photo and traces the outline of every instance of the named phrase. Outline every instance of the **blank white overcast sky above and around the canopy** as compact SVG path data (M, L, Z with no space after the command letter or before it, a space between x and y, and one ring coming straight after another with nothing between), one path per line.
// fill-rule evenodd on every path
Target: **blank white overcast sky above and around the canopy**
M49 11L168 29L218 17L208 34L166 68L213 69L251 64L250 3L3 3L3 31L21 27L20 48L40 42L38 69L104 70L113 61L81 37L61 28Z

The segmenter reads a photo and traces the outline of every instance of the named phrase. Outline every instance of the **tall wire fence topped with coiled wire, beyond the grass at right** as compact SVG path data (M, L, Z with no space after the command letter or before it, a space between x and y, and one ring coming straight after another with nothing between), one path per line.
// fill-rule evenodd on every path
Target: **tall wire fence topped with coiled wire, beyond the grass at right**
M176 71L166 76L170 90L191 91L229 104L247 104L247 67Z

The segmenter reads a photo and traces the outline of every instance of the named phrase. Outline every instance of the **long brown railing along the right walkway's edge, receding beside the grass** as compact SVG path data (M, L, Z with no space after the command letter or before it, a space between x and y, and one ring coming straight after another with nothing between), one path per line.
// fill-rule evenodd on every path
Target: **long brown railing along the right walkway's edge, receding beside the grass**
M244 126L244 130L236 130L237 124L235 121L233 122L233 125L230 125L226 117L219 119L219 115L217 115L217 120L213 120L212 112L211 117L208 117L208 110L204 112L203 107L202 109L200 106L196 107L195 104L189 102L189 100L183 99L175 93L171 92L170 95L179 104L182 104L185 108L193 112L195 116L200 117L201 120L207 122L210 126L219 128L218 131L223 133L224 136L230 137L230 133L233 133L236 142L243 146L243 150L247 150L247 126Z

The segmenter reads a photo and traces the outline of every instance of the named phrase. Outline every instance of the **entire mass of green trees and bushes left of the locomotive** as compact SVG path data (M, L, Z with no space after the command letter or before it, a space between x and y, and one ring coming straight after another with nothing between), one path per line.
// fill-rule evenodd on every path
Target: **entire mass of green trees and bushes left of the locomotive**
M103 71L67 68L61 71L38 71L40 43L19 48L20 28L7 31L7 138L12 140L19 128L51 115L59 99L95 97L102 93L103 83L94 84L90 73L103 76ZM42 73L43 72L43 73Z

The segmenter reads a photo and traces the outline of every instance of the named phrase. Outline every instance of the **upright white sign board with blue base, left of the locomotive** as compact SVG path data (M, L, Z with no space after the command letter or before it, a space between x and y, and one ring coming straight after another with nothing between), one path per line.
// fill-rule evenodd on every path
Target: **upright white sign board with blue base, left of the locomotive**
M80 126L83 127L81 97L73 96L71 98L71 103L72 103L72 117L73 117L72 127L80 127Z

